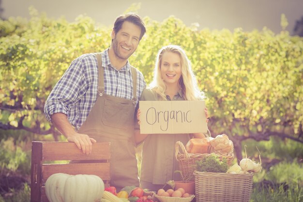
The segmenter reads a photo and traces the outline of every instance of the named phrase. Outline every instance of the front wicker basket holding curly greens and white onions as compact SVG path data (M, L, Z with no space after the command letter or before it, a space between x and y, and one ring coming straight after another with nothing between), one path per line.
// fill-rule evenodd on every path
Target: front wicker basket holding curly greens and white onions
M194 171L197 202L249 202L253 173Z

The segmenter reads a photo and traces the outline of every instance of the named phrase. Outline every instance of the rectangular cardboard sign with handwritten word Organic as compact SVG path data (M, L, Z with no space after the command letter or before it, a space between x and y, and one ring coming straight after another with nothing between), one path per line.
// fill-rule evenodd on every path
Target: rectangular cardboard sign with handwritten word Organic
M205 101L140 101L141 134L206 133Z

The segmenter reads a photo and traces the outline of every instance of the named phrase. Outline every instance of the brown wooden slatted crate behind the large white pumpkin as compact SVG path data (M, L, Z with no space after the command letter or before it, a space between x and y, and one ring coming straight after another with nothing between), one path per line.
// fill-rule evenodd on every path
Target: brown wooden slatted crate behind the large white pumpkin
M49 202L45 195L45 182L50 175L58 172L97 175L105 186L109 186L109 159L109 142L93 143L92 153L85 155L74 142L32 141L30 202ZM81 163L60 162L64 160L81 160Z

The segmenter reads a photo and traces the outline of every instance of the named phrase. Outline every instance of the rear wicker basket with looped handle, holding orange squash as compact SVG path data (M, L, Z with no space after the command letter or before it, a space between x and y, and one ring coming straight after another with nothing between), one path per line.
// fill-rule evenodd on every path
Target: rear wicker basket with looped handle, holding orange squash
M179 151L179 147L182 150L182 153ZM190 154L187 153L185 146L181 141L177 141L175 144L175 157L179 164L179 170L182 171L184 179L194 181L194 171L196 171L196 161L201 160L211 154ZM227 155L218 155L219 159L223 157L227 158L227 164L230 165L232 159L234 158L233 150Z

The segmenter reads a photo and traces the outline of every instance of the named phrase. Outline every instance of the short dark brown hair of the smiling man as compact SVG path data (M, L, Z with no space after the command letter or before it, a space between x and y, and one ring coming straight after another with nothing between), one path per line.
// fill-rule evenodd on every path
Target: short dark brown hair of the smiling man
M118 31L121 30L122 24L125 21L131 22L141 28L141 34L140 34L140 38L139 38L139 40L141 40L143 35L146 32L146 28L145 28L142 18L134 13L129 13L129 14L125 14L125 15L121 15L121 16L117 17L115 24L114 24L114 28L113 28L115 33L118 33Z

